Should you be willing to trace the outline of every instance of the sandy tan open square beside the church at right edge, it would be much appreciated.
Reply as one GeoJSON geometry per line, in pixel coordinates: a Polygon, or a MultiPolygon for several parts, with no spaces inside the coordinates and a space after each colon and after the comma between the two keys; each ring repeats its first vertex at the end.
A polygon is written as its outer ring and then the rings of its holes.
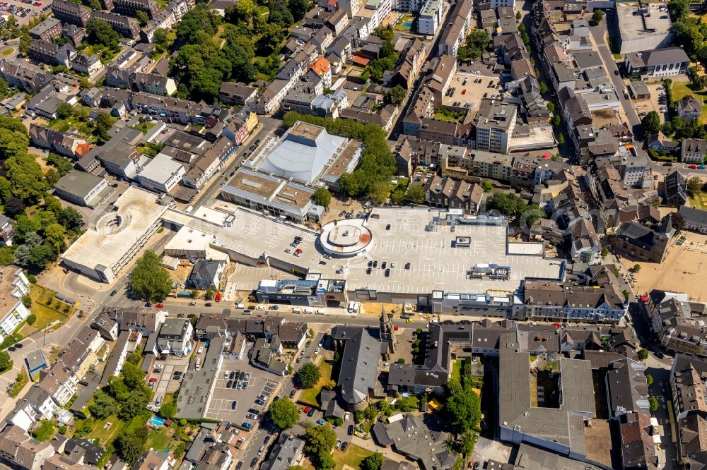
{"type": "MultiPolygon", "coordinates": [[[[680,236],[684,236],[684,243],[680,246],[673,244],[664,263],[638,263],[641,270],[636,275],[636,285],[633,289],[636,294],[660,289],[686,292],[696,301],[701,301],[702,296],[707,299],[700,276],[703,267],[707,267],[707,235],[682,231],[678,239],[680,236]]],[[[636,264],[635,261],[624,259],[621,262],[626,268],[636,264]]]]}

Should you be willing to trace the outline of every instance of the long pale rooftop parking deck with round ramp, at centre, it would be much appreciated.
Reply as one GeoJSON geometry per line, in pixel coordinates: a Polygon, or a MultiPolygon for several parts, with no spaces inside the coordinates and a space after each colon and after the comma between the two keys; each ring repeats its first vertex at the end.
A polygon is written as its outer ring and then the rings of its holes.
{"type": "MultiPolygon", "coordinates": [[[[218,203],[217,203],[218,204],[218,203]]],[[[215,246],[226,251],[243,253],[250,258],[259,258],[265,253],[271,258],[296,265],[303,271],[321,273],[325,279],[346,278],[349,290],[373,289],[381,292],[428,294],[433,289],[446,292],[485,292],[488,290],[515,291],[520,281],[526,278],[558,279],[561,271],[559,260],[550,260],[539,255],[508,253],[506,224],[474,225],[457,224],[455,231],[450,226],[438,225],[433,231],[425,227],[439,216],[438,210],[427,208],[375,207],[366,227],[373,236],[366,253],[354,258],[326,260],[317,241],[318,234],[288,223],[279,223],[270,217],[238,207],[234,230],[223,227],[222,220],[209,222],[197,215],[214,210],[194,210],[192,215],[168,210],[165,219],[187,225],[193,229],[216,236],[215,246]],[[390,225],[390,228],[387,226],[390,225]],[[299,257],[285,253],[295,236],[303,238],[298,246],[303,253],[299,257]],[[457,236],[469,236],[469,248],[455,248],[457,236]],[[369,260],[378,260],[378,269],[366,274],[369,260]],[[325,261],[325,265],[320,264],[325,261]],[[389,277],[381,269],[383,261],[396,263],[389,277]],[[410,269],[404,269],[410,263],[410,269]],[[467,271],[477,264],[495,263],[510,266],[510,278],[467,279],[467,271]],[[341,272],[343,270],[343,273],[341,272]]],[[[219,212],[227,215],[224,212],[219,212]]],[[[254,285],[260,279],[253,279],[254,285]]]]}

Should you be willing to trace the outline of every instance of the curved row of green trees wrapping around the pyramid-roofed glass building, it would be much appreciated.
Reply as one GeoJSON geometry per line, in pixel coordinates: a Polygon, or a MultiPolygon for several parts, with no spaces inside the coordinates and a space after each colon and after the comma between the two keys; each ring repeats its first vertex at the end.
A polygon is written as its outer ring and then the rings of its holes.
{"type": "Polygon", "coordinates": [[[352,173],[341,175],[339,186],[345,195],[368,195],[376,203],[385,202],[390,193],[389,182],[395,174],[396,165],[395,157],[387,146],[385,132],[380,126],[360,123],[353,119],[320,118],[296,112],[285,114],[283,125],[290,128],[297,121],[323,126],[327,132],[334,135],[363,141],[363,155],[358,168],[352,173]]]}

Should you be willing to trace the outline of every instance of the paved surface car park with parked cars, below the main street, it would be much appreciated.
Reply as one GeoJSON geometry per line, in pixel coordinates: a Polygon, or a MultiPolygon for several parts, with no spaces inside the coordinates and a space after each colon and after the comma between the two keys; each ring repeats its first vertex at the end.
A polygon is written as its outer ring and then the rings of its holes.
{"type": "Polygon", "coordinates": [[[248,410],[256,409],[262,416],[271,402],[279,380],[281,380],[281,377],[266,370],[252,367],[247,361],[224,358],[221,370],[219,370],[216,377],[216,386],[205,417],[230,421],[237,425],[245,422],[255,426],[256,420],[246,417],[246,414],[249,413],[248,410]],[[230,379],[230,373],[238,371],[250,374],[248,380],[230,379]],[[229,378],[226,378],[226,372],[228,372],[229,378]],[[246,390],[238,390],[237,386],[235,388],[226,387],[229,381],[233,385],[233,380],[236,383],[247,382],[246,390]],[[255,399],[261,394],[264,394],[267,398],[265,406],[255,404],[255,399]],[[233,409],[233,402],[236,402],[235,409],[233,409]]]}

